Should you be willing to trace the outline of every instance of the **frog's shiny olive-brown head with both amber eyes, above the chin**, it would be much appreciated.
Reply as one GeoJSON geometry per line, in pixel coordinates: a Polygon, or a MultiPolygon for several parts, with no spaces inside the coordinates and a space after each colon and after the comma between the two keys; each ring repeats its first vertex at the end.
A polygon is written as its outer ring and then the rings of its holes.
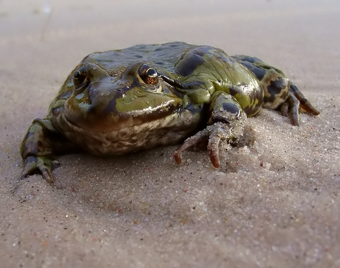
{"type": "Polygon", "coordinates": [[[65,103],[65,116],[73,125],[90,129],[119,129],[165,117],[182,100],[147,62],[106,70],[85,63],[73,74],[73,91],[65,103]]]}

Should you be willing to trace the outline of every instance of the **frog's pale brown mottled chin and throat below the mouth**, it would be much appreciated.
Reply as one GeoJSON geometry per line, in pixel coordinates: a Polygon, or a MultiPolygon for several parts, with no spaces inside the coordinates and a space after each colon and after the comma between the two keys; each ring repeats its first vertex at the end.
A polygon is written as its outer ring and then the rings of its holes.
{"type": "MultiPolygon", "coordinates": [[[[144,122],[142,118],[133,116],[117,122],[101,121],[101,125],[95,127],[74,125],[66,117],[65,119],[63,126],[68,125],[68,130],[71,130],[63,131],[65,136],[98,156],[121,155],[158,145],[176,144],[183,140],[183,136],[192,132],[191,128],[178,126],[179,118],[176,112],[154,120],[149,118],[144,122]]],[[[187,124],[196,127],[197,122],[187,124]]]]}

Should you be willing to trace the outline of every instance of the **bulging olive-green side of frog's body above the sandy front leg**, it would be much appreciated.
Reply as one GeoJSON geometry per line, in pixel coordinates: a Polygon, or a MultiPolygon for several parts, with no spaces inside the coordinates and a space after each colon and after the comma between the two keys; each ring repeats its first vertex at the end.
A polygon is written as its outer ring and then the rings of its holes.
{"type": "Polygon", "coordinates": [[[201,82],[210,95],[217,91],[232,95],[248,116],[254,116],[262,107],[264,95],[258,79],[220,48],[191,47],[181,54],[173,71],[184,83],[201,82]]]}

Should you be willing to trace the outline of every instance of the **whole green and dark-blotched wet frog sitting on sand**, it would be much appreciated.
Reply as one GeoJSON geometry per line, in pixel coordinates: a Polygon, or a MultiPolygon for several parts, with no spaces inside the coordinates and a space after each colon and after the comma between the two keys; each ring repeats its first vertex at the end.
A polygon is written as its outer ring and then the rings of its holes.
{"type": "Polygon", "coordinates": [[[48,115],[29,126],[20,178],[40,173],[52,184],[58,155],[119,156],[175,144],[177,164],[203,144],[219,168],[221,142],[237,143],[262,108],[295,126],[300,112],[319,114],[282,71],[255,57],[184,42],[94,52],[68,75],[48,115]]]}

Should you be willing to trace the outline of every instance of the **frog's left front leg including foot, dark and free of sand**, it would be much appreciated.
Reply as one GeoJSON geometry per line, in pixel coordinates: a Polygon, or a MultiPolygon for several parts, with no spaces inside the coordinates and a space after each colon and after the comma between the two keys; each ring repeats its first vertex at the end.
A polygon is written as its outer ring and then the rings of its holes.
{"type": "Polygon", "coordinates": [[[28,128],[20,147],[23,159],[23,171],[20,179],[41,173],[47,182],[53,183],[52,170],[60,163],[53,157],[60,148],[68,147],[70,143],[51,124],[51,119],[36,118],[28,128]]]}

